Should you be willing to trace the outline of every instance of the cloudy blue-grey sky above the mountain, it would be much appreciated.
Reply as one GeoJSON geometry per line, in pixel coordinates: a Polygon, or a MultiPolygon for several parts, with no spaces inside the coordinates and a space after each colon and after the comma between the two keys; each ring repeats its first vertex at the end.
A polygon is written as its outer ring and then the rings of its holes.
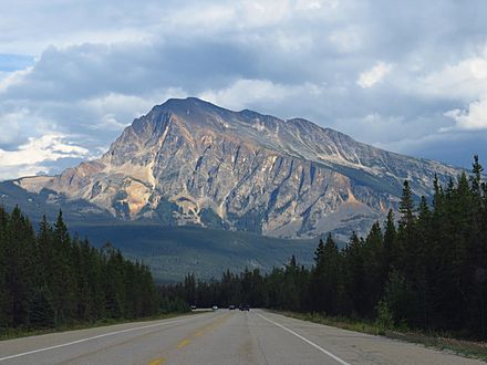
{"type": "Polygon", "coordinates": [[[186,96],[468,168],[487,1],[0,0],[0,180],[100,157],[186,96]]]}

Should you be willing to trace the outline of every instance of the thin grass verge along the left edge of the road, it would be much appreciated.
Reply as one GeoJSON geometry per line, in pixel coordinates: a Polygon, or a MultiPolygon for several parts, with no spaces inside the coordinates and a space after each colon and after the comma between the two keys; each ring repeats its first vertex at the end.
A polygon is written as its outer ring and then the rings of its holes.
{"type": "Polygon", "coordinates": [[[176,316],[183,315],[194,315],[204,312],[187,312],[187,313],[166,313],[158,314],[143,319],[133,319],[133,320],[114,320],[114,319],[105,319],[96,322],[76,322],[71,324],[63,324],[52,328],[29,328],[29,327],[20,327],[20,328],[0,328],[0,341],[6,340],[14,340],[20,337],[29,337],[29,336],[38,336],[42,334],[56,333],[56,332],[65,332],[65,331],[76,331],[76,330],[86,330],[86,328],[95,328],[114,324],[124,324],[132,322],[148,322],[148,321],[157,321],[157,320],[167,320],[176,316]]]}

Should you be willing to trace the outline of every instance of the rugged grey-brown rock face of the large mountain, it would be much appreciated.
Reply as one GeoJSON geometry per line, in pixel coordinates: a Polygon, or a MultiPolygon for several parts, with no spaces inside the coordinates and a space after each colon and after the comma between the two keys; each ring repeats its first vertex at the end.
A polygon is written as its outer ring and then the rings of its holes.
{"type": "Polygon", "coordinates": [[[364,232],[395,209],[404,179],[429,195],[459,170],[355,142],[305,119],[169,100],[125,128],[99,160],[15,184],[85,200],[125,220],[310,238],[364,232]]]}

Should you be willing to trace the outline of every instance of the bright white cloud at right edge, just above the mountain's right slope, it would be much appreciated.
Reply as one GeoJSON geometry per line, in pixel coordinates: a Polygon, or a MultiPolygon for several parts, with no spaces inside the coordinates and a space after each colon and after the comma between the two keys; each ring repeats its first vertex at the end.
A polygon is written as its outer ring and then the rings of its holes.
{"type": "MultiPolygon", "coordinates": [[[[445,113],[445,116],[455,121],[458,129],[487,129],[487,97],[473,102],[466,109],[453,109],[445,113]]],[[[447,131],[448,128],[443,128],[447,131]]]]}

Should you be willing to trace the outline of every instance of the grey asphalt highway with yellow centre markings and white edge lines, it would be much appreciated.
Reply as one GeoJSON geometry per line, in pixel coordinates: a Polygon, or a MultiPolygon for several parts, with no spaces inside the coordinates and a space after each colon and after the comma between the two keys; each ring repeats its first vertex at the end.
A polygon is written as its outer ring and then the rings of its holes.
{"type": "Polygon", "coordinates": [[[218,310],[0,342],[3,364],[485,364],[251,310],[218,310]]]}

